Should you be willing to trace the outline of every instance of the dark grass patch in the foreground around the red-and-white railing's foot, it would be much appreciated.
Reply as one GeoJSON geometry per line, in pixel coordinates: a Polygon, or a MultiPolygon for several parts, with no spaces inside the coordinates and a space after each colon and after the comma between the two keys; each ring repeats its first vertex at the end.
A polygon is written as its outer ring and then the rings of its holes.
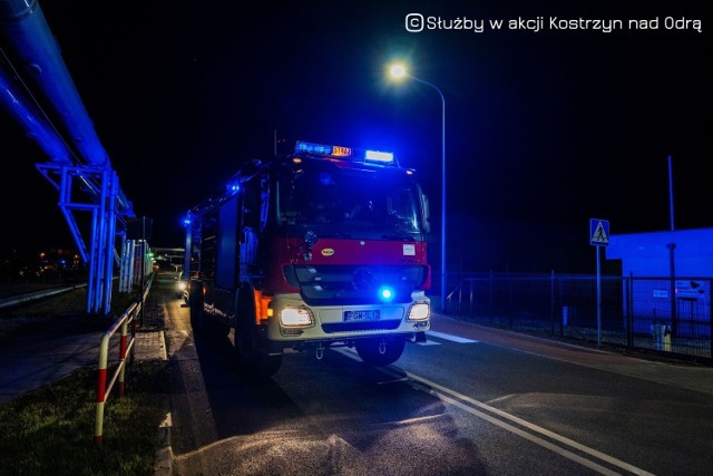
{"type": "Polygon", "coordinates": [[[105,406],[92,441],[96,369],[81,369],[0,406],[0,468],[9,475],[150,475],[168,402],[164,361],[137,361],[105,406]]]}

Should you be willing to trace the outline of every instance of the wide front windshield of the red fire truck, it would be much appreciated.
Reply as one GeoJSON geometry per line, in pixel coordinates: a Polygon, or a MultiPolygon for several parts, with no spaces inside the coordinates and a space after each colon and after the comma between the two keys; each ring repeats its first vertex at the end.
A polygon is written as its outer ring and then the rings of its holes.
{"type": "Polygon", "coordinates": [[[305,166],[277,186],[279,220],[289,227],[409,236],[422,231],[419,187],[403,169],[305,166]]]}

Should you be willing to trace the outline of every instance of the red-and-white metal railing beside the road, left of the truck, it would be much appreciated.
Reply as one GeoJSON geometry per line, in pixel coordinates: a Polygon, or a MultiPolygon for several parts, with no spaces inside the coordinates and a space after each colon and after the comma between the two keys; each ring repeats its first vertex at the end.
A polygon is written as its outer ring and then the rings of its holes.
{"type": "Polygon", "coordinates": [[[97,375],[97,406],[96,406],[96,418],[95,418],[95,429],[94,429],[94,443],[97,446],[101,446],[104,440],[104,407],[106,405],[107,399],[109,398],[109,394],[114,388],[114,385],[118,381],[119,387],[119,397],[124,395],[124,381],[126,376],[126,366],[127,366],[127,356],[129,356],[128,363],[133,362],[134,358],[134,344],[136,342],[136,320],[137,317],[143,312],[144,305],[146,303],[146,297],[148,295],[148,290],[150,289],[152,282],[154,278],[148,280],[144,292],[139,300],[134,302],[129,308],[124,311],[121,317],[117,319],[114,324],[104,333],[101,337],[101,344],[99,347],[99,371],[97,375]],[[129,339],[128,329],[129,324],[131,324],[131,336],[129,339]],[[109,367],[109,343],[111,341],[111,337],[116,334],[120,330],[120,341],[119,341],[119,358],[118,366],[114,370],[111,375],[111,379],[107,385],[108,377],[108,367],[109,367]]]}

